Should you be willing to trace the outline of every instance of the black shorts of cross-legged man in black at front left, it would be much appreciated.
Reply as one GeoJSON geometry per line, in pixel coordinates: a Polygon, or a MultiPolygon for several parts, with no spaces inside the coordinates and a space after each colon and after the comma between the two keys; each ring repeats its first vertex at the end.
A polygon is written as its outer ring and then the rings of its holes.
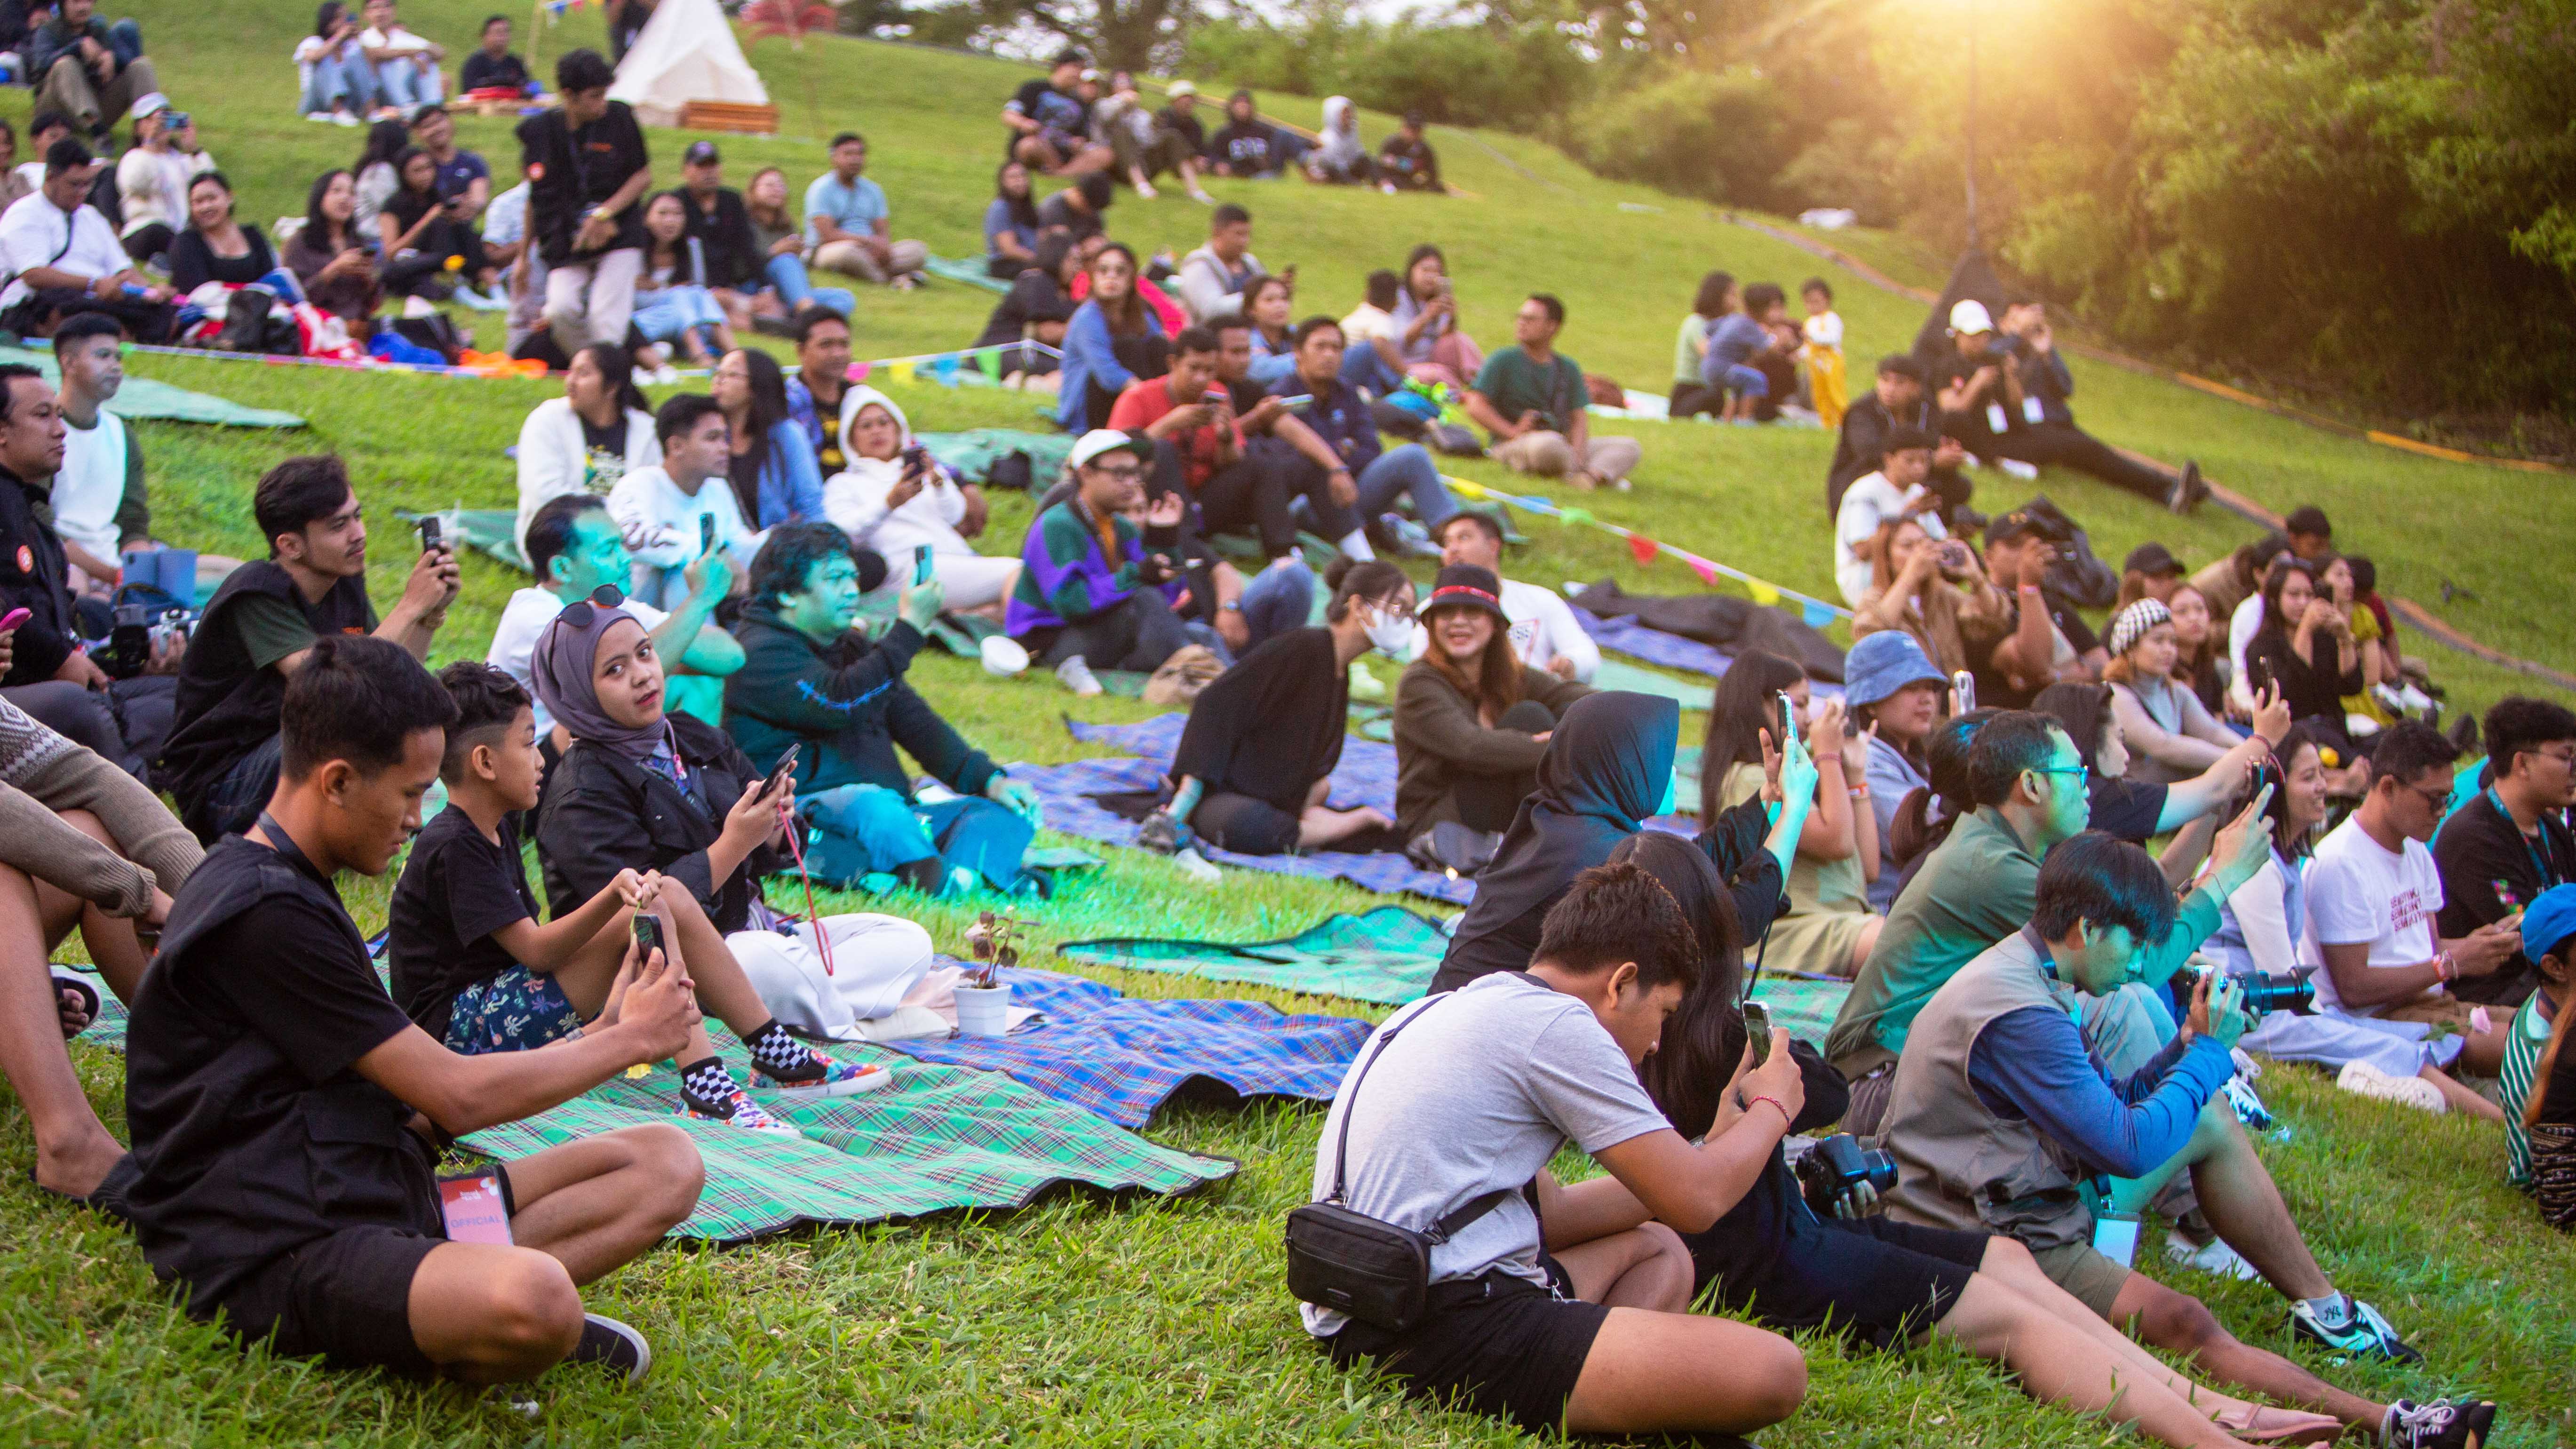
{"type": "Polygon", "coordinates": [[[245,1276],[216,1307],[227,1330],[281,1359],[430,1379],[438,1369],[412,1341],[410,1307],[412,1276],[440,1243],[410,1227],[343,1227],[245,1276]]]}

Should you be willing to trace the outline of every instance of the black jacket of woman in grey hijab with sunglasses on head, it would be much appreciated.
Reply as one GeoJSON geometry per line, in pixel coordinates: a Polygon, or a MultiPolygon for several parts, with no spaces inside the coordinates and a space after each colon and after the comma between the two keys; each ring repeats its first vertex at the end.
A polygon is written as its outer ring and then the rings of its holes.
{"type": "Polygon", "coordinates": [[[564,761],[546,771],[536,853],[546,866],[546,900],[556,915],[577,910],[618,871],[636,869],[685,884],[716,931],[750,926],[757,877],[783,866],[781,851],[760,846],[719,882],[706,848],[724,833],[724,812],[760,771],[714,724],[672,714],[670,730],[680,763],[688,766],[688,794],[587,740],[574,740],[564,761]]]}

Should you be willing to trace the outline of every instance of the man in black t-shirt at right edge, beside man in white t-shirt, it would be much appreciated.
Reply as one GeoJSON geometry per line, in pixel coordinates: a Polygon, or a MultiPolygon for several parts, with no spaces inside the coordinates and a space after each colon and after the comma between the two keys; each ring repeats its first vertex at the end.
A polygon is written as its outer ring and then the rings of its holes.
{"type": "MultiPolygon", "coordinates": [[[[2576,804],[2576,712],[2548,699],[2506,696],[2486,712],[2486,761],[2494,779],[2476,799],[2450,812],[2432,838],[2432,864],[2442,871],[2445,941],[2504,920],[2543,890],[2576,882],[2576,835],[2566,812],[2576,804]]],[[[2460,977],[2460,1000],[2514,1006],[2537,975],[2514,951],[2491,977],[2460,977]]]]}

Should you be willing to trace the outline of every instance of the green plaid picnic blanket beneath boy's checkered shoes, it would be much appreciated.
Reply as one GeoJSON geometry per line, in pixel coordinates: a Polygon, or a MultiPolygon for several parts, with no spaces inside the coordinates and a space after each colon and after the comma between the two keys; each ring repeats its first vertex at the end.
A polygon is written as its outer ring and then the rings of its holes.
{"type": "MultiPolygon", "coordinates": [[[[124,1049],[126,1013],[111,993],[100,998],[106,1011],[82,1042],[124,1049]]],[[[742,1044],[714,1021],[708,1036],[734,1075],[750,1080],[742,1044]]],[[[804,1222],[855,1227],[958,1207],[1025,1207],[1056,1183],[1185,1194],[1234,1176],[1234,1163],[1159,1147],[997,1073],[907,1062],[873,1047],[832,1049],[894,1067],[894,1083],[801,1106],[765,1101],[801,1137],[680,1116],[672,1109],[680,1078],[659,1065],[461,1145],[523,1158],[621,1127],[677,1124],[706,1158],[706,1191],[672,1235],[708,1243],[747,1243],[804,1222]]]]}

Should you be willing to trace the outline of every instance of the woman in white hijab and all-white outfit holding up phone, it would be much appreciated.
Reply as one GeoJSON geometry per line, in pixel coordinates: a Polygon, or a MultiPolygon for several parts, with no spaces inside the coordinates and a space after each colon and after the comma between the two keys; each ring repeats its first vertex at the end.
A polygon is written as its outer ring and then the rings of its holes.
{"type": "Polygon", "coordinates": [[[1020,580],[1020,559],[987,557],[966,539],[984,531],[984,492],[956,482],[927,451],[912,464],[912,423],[891,397],[850,387],[840,400],[845,469],[822,485],[822,513],[860,549],[886,559],[889,580],[912,578],[912,549],[930,549],[930,567],[953,611],[997,611],[1020,580]]]}

